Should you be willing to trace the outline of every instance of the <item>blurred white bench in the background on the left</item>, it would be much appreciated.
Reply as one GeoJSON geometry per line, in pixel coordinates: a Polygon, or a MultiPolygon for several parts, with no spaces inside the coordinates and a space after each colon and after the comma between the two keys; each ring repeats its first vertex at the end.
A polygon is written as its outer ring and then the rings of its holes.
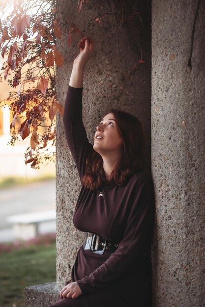
{"type": "Polygon", "coordinates": [[[7,217],[7,221],[13,224],[15,238],[23,240],[34,238],[39,233],[39,223],[55,220],[55,210],[11,215],[7,217]]]}

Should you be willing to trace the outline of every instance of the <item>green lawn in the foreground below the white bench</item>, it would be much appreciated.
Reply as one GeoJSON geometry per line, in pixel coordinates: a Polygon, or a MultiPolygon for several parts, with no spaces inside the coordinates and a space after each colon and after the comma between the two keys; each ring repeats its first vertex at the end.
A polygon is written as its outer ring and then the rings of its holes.
{"type": "Polygon", "coordinates": [[[56,281],[55,243],[0,253],[0,306],[24,307],[25,287],[51,281],[56,281]]]}

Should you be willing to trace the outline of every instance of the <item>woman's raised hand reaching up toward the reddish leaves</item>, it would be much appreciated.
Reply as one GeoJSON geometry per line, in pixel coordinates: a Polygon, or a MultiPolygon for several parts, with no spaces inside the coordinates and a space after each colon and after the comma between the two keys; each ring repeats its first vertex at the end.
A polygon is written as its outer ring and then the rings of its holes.
{"type": "Polygon", "coordinates": [[[79,42],[78,47],[80,48],[80,53],[75,58],[74,65],[80,69],[84,69],[94,51],[94,41],[86,36],[79,42]]]}

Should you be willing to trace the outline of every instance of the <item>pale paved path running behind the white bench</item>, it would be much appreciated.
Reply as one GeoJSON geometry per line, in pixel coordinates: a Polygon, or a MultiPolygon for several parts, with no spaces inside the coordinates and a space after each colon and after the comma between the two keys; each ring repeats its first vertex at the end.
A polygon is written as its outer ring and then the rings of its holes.
{"type": "MultiPolygon", "coordinates": [[[[32,182],[0,189],[0,241],[12,240],[11,224],[6,221],[9,215],[36,211],[55,210],[56,187],[55,179],[32,182]]],[[[46,223],[42,232],[53,231],[55,223],[46,223]],[[53,226],[52,226],[53,225],[53,226]]],[[[43,225],[42,225],[43,226],[43,225]]]]}

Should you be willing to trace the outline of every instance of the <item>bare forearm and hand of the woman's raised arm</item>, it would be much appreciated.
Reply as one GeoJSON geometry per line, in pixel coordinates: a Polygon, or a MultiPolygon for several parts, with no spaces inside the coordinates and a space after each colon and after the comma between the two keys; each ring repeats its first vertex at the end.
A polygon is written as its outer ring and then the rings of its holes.
{"type": "Polygon", "coordinates": [[[80,48],[80,53],[74,60],[69,83],[70,86],[75,88],[83,87],[84,67],[94,51],[94,42],[91,38],[84,37],[79,42],[78,46],[80,48]]]}

